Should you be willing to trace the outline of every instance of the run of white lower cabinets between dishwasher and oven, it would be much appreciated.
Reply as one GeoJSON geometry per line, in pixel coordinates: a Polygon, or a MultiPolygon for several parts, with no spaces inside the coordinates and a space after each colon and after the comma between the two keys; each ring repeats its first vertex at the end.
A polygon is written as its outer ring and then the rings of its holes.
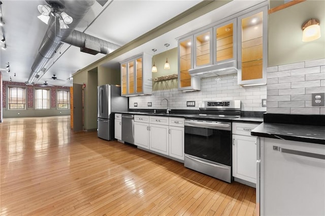
{"type": "Polygon", "coordinates": [[[184,160],[184,119],[135,115],[135,145],[184,160]]]}

